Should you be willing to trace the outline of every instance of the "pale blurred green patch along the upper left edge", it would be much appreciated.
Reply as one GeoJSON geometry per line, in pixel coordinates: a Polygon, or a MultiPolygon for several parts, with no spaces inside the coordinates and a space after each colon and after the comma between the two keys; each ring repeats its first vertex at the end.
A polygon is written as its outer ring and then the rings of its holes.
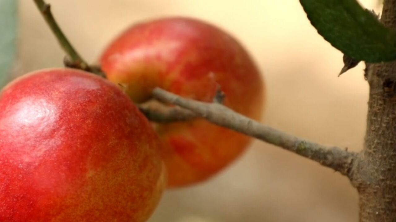
{"type": "Polygon", "coordinates": [[[0,88],[10,79],[17,36],[17,0],[0,0],[0,88]]]}

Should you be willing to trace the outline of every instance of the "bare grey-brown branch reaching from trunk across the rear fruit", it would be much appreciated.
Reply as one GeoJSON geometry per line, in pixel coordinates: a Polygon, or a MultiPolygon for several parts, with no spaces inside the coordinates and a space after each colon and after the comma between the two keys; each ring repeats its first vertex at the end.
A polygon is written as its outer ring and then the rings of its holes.
{"type": "Polygon", "coordinates": [[[348,152],[339,147],[326,147],[265,126],[219,103],[206,103],[182,98],[160,88],[155,88],[153,95],[162,102],[179,105],[214,124],[282,147],[300,156],[314,160],[323,166],[339,171],[348,177],[352,162],[357,156],[356,153],[348,152]]]}

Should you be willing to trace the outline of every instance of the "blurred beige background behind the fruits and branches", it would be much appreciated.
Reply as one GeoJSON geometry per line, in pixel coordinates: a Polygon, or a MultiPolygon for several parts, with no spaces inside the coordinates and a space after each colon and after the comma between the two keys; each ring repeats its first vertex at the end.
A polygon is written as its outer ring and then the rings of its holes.
{"type": "MultiPolygon", "coordinates": [[[[187,15],[221,26],[254,56],[267,85],[265,122],[328,145],[362,147],[368,86],[360,64],[337,78],[342,54],[310,26],[297,0],[48,1],[90,62],[127,26],[187,15]]],[[[374,0],[367,8],[379,11],[374,0]]],[[[16,75],[61,66],[63,52],[31,0],[20,0],[16,75]]],[[[335,222],[358,220],[358,197],[339,173],[255,141],[221,174],[168,191],[150,222],[335,222]]]]}

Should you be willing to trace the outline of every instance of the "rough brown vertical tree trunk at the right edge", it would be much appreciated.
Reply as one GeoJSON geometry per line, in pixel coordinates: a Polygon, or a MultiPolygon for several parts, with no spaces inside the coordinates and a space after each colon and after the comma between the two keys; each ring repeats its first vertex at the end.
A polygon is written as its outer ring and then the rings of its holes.
{"type": "MultiPolygon", "coordinates": [[[[385,0],[381,21],[396,28],[396,0],[385,0]]],[[[396,62],[369,64],[370,96],[364,149],[351,181],[360,222],[396,222],[396,62]]]]}

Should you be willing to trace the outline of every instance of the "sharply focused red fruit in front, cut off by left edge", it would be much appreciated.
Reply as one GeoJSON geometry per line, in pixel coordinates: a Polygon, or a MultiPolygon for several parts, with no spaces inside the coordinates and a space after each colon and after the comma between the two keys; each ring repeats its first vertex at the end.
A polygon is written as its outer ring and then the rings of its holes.
{"type": "Polygon", "coordinates": [[[2,90],[1,222],[143,222],[164,175],[150,123],[109,81],[59,68],[2,90]]]}

